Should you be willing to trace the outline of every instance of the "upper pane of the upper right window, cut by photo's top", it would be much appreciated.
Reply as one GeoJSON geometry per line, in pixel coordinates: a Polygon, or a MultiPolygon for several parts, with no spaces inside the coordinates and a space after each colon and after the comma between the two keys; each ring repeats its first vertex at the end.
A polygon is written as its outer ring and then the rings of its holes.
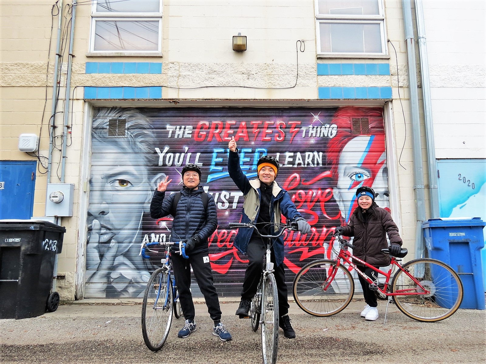
{"type": "Polygon", "coordinates": [[[380,0],[319,0],[319,14],[380,15],[380,0]]]}

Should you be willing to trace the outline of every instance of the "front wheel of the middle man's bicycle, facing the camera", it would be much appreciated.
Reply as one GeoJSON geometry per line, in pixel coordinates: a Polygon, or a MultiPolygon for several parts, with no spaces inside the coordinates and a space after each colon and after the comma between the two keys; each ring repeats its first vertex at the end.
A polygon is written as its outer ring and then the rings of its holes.
{"type": "Polygon", "coordinates": [[[275,364],[278,351],[277,282],[272,273],[263,279],[261,294],[261,352],[263,364],[275,364]]]}

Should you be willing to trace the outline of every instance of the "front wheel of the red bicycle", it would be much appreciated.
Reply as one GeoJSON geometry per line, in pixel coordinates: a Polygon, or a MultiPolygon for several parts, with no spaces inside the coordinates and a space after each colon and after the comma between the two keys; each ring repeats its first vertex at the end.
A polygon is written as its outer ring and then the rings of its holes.
{"type": "Polygon", "coordinates": [[[354,281],[345,266],[336,267],[336,262],[321,259],[300,269],[294,279],[293,294],[295,303],[304,312],[331,316],[343,311],[351,301],[354,281]]]}

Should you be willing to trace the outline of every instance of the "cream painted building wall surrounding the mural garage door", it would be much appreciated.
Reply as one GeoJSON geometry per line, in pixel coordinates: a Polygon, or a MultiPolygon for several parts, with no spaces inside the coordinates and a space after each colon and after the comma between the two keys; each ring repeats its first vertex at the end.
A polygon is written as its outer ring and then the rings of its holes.
{"type": "MultiPolygon", "coordinates": [[[[48,154],[48,125],[52,107],[52,75],[58,19],[51,16],[52,2],[3,0],[0,5],[1,160],[36,159],[18,151],[18,135],[21,132],[40,133],[39,153],[43,156],[48,154]],[[50,38],[52,43],[49,49],[50,38]]],[[[204,6],[190,1],[167,0],[163,9],[162,57],[89,56],[91,8],[88,4],[78,5],[73,47],[75,57],[72,59],[69,90],[73,100],[69,106],[69,147],[64,181],[75,185],[74,209],[72,217],[63,217],[60,220],[60,224],[67,228],[58,266],[59,275],[66,277],[65,281],[58,280],[58,290],[62,297],[74,298],[76,286],[77,294],[82,297],[79,286],[83,283],[80,272],[85,269],[89,133],[93,106],[302,107],[383,106],[386,103],[389,185],[394,191],[390,197],[390,206],[392,215],[399,224],[404,244],[413,252],[417,221],[401,2],[385,0],[384,3],[387,37],[397,53],[388,45],[389,58],[346,59],[316,58],[313,0],[287,0],[278,3],[248,1],[244,5],[242,1],[212,1],[204,6]],[[242,53],[231,49],[231,37],[239,32],[248,37],[248,50],[242,53]],[[301,42],[297,42],[299,40],[301,42]],[[295,84],[297,56],[297,83],[295,87],[285,89],[283,87],[295,84]],[[162,63],[162,67],[159,74],[87,73],[89,62],[152,62],[162,63]],[[329,65],[346,64],[355,69],[363,64],[377,65],[377,68],[385,65],[388,66],[389,74],[318,74],[319,64],[327,64],[328,68],[329,65]],[[167,85],[174,88],[161,87],[167,85]],[[225,87],[183,89],[197,86],[225,87]],[[161,89],[160,97],[156,98],[101,99],[97,96],[86,97],[87,87],[92,87],[91,90],[99,87],[102,92],[107,91],[104,87],[161,89]],[[282,88],[277,89],[278,87],[282,88]],[[328,87],[329,97],[326,94],[328,87]],[[333,97],[331,87],[334,87],[332,91],[342,92],[342,96],[333,97]],[[376,90],[382,90],[383,94],[360,98],[355,93],[354,97],[348,97],[346,93],[349,88],[357,92],[357,87],[372,88],[366,89],[371,92],[369,95],[375,95],[376,90]]],[[[65,6],[66,2],[62,9],[63,16],[67,14],[65,6]]],[[[54,9],[54,14],[55,11],[54,9]]],[[[63,27],[65,25],[63,20],[63,27]]],[[[64,50],[60,81],[61,101],[56,109],[59,114],[55,117],[55,124],[58,126],[56,135],[62,130],[67,62],[68,51],[64,50]]],[[[358,91],[362,91],[361,88],[358,91]]],[[[60,158],[59,151],[54,149],[51,182],[60,180],[60,158]]],[[[46,159],[41,158],[41,161],[46,163],[46,159]]],[[[45,169],[39,167],[33,212],[35,216],[45,214],[47,179],[42,174],[44,172],[45,169]]],[[[413,254],[410,253],[408,257],[412,259],[413,254]]]]}

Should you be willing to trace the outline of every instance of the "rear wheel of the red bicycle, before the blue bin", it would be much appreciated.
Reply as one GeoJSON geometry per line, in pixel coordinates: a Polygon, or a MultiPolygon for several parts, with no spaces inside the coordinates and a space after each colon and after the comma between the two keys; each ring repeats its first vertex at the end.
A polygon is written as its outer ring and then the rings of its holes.
{"type": "Polygon", "coordinates": [[[393,293],[408,293],[395,296],[395,304],[401,312],[417,321],[443,320],[457,311],[463,298],[463,286],[452,268],[435,259],[415,259],[403,265],[393,277],[393,293]],[[411,277],[427,291],[424,293],[411,277]]]}

